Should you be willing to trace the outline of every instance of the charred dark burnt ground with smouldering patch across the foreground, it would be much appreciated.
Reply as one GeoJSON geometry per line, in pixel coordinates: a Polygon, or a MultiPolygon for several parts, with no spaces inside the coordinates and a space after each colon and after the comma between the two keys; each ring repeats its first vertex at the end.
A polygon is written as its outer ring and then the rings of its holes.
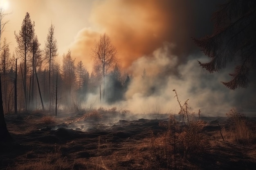
{"type": "Polygon", "coordinates": [[[246,148],[221,142],[214,120],[227,126],[226,118],[222,117],[202,118],[206,123],[202,133],[207,137],[207,147],[189,159],[178,159],[177,155],[175,166],[173,156],[164,159],[167,164],[159,164],[158,159],[159,162],[163,159],[152,153],[166,152],[152,147],[157,137],[168,130],[163,126],[168,125],[167,115],[128,119],[124,115],[73,113],[46,119],[43,113],[24,113],[7,114],[5,119],[14,140],[0,146],[0,170],[165,170],[168,167],[254,170],[256,167],[256,142],[246,148]]]}

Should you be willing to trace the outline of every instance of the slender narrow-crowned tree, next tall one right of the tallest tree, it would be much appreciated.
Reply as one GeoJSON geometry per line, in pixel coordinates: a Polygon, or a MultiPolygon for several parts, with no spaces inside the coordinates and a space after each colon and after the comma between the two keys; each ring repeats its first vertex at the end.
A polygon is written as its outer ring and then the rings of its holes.
{"type": "MultiPolygon", "coordinates": [[[[45,42],[45,59],[49,63],[49,97],[51,97],[51,66],[54,58],[57,56],[57,40],[54,38],[54,26],[51,24],[45,42]]],[[[53,90],[53,89],[52,89],[53,90]]],[[[51,100],[51,98],[49,98],[51,100]]]]}

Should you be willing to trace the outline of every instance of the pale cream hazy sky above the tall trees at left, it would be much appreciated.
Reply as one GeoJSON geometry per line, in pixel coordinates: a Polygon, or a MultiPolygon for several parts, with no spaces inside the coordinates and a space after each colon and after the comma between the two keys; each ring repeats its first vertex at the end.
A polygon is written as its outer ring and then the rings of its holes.
{"type": "Polygon", "coordinates": [[[58,42],[58,52],[62,56],[67,53],[77,33],[85,27],[90,27],[89,15],[92,2],[87,0],[4,0],[8,2],[6,13],[11,12],[4,19],[9,20],[6,32],[10,42],[11,51],[17,46],[14,31],[20,31],[21,24],[26,12],[35,22],[35,32],[41,43],[45,46],[48,29],[52,24],[55,26],[55,37],[58,42]]]}

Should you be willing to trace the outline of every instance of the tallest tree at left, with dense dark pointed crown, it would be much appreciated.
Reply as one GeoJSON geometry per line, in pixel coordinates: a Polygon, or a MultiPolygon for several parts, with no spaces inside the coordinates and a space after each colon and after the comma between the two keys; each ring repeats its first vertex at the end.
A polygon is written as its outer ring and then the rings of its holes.
{"type": "Polygon", "coordinates": [[[16,42],[18,44],[17,51],[20,55],[24,55],[24,95],[25,95],[25,109],[27,110],[27,55],[31,50],[32,40],[34,38],[34,26],[35,23],[31,22],[30,15],[27,12],[22,22],[20,32],[17,34],[14,32],[16,42]]]}

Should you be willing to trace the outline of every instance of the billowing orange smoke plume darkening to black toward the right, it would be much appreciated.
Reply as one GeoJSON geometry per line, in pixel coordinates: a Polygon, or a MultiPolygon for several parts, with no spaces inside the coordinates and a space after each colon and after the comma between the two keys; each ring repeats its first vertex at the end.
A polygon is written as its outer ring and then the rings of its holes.
{"type": "Polygon", "coordinates": [[[90,14],[92,28],[84,28],[78,33],[72,53],[79,60],[89,62],[94,40],[106,33],[117,48],[122,68],[128,68],[143,55],[150,55],[163,42],[175,44],[173,54],[181,58],[179,62],[184,62],[187,55],[198,51],[191,37],[211,32],[209,20],[217,3],[96,0],[90,14]]]}

